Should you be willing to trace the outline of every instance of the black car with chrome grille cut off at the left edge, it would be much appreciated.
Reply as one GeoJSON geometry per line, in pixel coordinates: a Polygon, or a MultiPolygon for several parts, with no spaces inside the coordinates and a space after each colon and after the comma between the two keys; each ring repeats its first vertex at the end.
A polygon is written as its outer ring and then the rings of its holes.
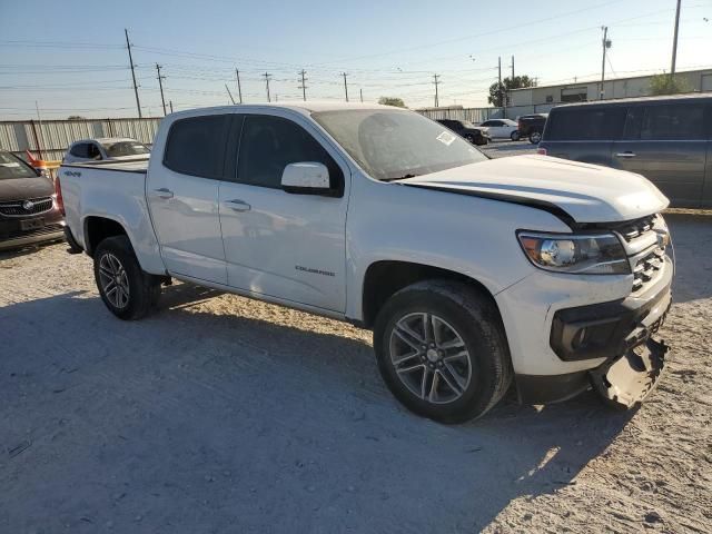
{"type": "Polygon", "coordinates": [[[0,250],[62,239],[63,229],[52,180],[0,150],[0,250]]]}

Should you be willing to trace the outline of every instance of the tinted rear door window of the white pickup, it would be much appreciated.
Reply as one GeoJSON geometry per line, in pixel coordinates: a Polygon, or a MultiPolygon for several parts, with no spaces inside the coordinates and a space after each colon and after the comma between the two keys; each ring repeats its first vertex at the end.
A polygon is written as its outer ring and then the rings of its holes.
{"type": "Polygon", "coordinates": [[[164,165],[182,175],[221,179],[229,118],[229,115],[208,115],[174,122],[164,165]]]}

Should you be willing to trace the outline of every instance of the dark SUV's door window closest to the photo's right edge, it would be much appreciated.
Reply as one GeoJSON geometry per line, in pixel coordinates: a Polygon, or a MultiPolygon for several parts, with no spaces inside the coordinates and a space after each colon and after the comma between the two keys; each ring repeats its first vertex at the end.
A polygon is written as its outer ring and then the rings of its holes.
{"type": "Polygon", "coordinates": [[[704,106],[671,103],[647,106],[641,122],[641,139],[705,139],[704,106]]]}

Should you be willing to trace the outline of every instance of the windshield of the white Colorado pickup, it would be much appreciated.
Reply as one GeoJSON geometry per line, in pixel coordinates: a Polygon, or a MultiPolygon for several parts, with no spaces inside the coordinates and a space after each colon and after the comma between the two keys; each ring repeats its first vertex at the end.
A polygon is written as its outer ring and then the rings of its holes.
{"type": "Polygon", "coordinates": [[[313,117],[378,180],[427,175],[487,159],[449,129],[412,111],[349,109],[313,117]]]}

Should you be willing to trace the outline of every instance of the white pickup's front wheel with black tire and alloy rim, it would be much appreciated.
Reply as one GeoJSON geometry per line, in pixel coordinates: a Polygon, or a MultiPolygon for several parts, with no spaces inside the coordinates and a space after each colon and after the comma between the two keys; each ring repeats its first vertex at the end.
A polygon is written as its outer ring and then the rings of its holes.
{"type": "Polygon", "coordinates": [[[481,417],[512,384],[498,310],[487,296],[462,283],[425,280],[393,295],[376,318],[374,350],[393,395],[439,423],[481,417]],[[424,323],[433,325],[429,336],[424,323]]]}

